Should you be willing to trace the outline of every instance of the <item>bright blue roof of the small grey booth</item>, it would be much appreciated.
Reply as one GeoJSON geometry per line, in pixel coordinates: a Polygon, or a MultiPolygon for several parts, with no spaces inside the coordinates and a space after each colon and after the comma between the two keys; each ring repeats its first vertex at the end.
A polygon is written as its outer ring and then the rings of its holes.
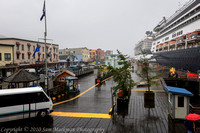
{"type": "Polygon", "coordinates": [[[180,94],[180,95],[185,95],[185,96],[193,96],[193,94],[184,89],[184,88],[178,88],[178,87],[172,87],[172,86],[165,86],[168,92],[171,92],[173,94],[180,94]]]}

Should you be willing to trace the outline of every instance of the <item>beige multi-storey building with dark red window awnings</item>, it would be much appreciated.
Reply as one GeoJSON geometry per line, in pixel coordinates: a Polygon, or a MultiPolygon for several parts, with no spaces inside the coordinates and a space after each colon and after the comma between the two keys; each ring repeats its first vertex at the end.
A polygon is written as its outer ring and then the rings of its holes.
{"type": "Polygon", "coordinates": [[[48,63],[58,63],[58,48],[57,44],[45,43],[24,40],[19,38],[0,38],[0,43],[3,44],[12,44],[14,45],[13,57],[14,64],[39,64],[44,63],[44,60],[47,58],[48,63]],[[40,51],[32,56],[34,51],[39,46],[40,51]],[[49,55],[49,56],[48,56],[49,55]]]}

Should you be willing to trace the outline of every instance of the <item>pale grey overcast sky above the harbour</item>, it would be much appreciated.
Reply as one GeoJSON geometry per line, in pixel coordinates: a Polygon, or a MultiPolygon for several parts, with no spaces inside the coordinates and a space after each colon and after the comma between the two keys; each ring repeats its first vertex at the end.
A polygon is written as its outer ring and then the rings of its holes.
{"type": "MultiPolygon", "coordinates": [[[[134,45],[162,17],[188,0],[46,0],[47,38],[59,48],[119,49],[133,56],[134,45]]],[[[0,34],[37,41],[44,0],[1,0],[0,34]]]]}

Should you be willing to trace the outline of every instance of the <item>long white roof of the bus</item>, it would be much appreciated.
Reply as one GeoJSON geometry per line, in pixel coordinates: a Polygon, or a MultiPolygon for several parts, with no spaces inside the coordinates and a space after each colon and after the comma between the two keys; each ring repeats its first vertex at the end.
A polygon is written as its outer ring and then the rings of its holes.
{"type": "Polygon", "coordinates": [[[38,87],[28,87],[28,88],[4,89],[0,90],[0,95],[30,93],[39,91],[43,91],[42,87],[38,86],[38,87]]]}

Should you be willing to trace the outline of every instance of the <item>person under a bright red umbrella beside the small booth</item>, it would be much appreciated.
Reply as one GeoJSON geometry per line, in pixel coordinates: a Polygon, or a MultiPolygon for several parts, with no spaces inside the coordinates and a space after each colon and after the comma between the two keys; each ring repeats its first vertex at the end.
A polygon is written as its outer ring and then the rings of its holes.
{"type": "Polygon", "coordinates": [[[198,114],[188,114],[186,117],[187,119],[187,133],[195,133],[195,121],[200,120],[200,115],[198,114]]]}

